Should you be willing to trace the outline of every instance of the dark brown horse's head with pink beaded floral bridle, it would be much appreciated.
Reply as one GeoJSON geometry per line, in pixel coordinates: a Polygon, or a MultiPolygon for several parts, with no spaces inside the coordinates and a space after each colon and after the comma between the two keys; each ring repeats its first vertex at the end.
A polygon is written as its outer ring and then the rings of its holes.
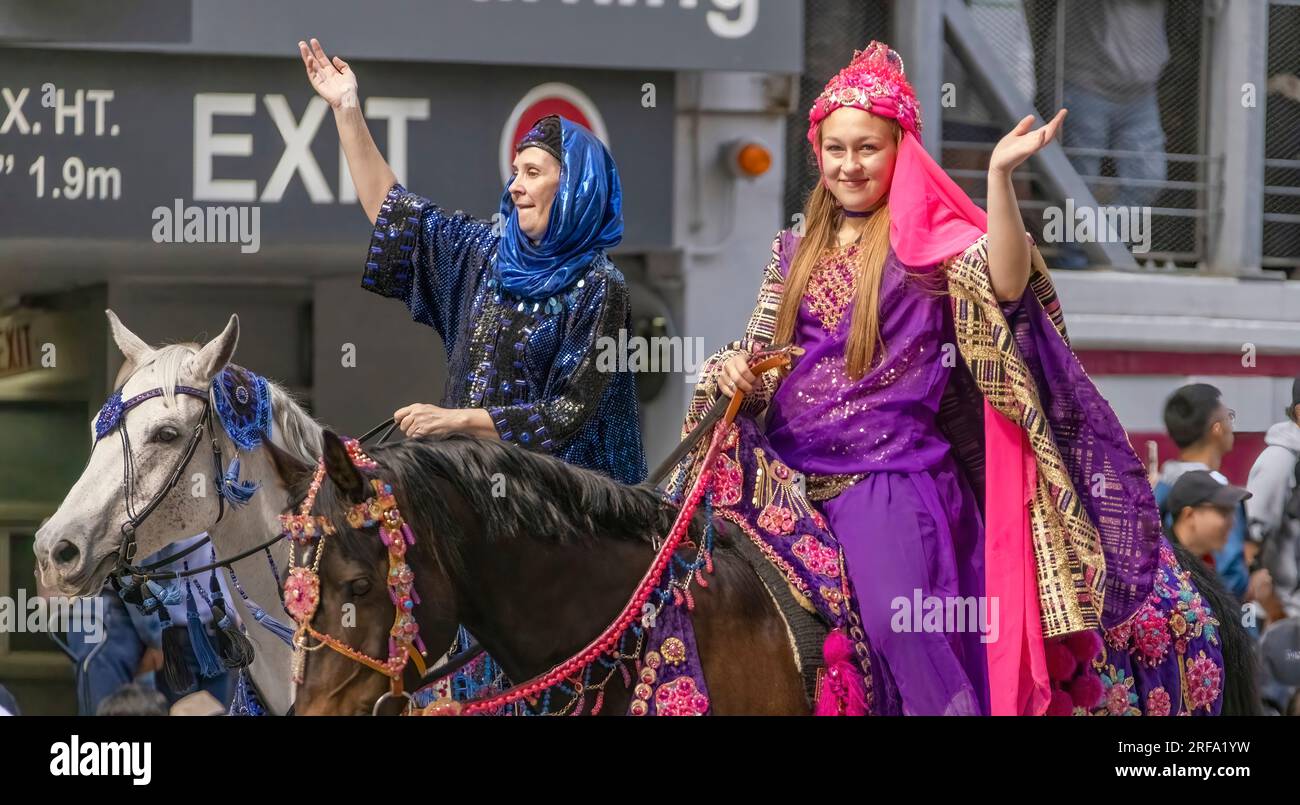
{"type": "MultiPolygon", "coordinates": [[[[391,637],[394,629],[403,628],[398,615],[406,589],[419,585],[419,603],[412,601],[410,613],[429,649],[429,662],[436,661],[455,636],[455,597],[429,545],[436,534],[428,507],[411,505],[412,490],[402,489],[389,469],[364,454],[350,454],[329,430],[324,433],[322,462],[324,475],[317,473],[321,480],[315,501],[309,492],[304,495],[308,511],[291,510],[311,515],[316,523],[320,523],[316,518],[324,518],[332,529],[322,538],[317,537],[309,550],[302,545],[294,548],[299,563],[315,563],[318,579],[318,603],[308,615],[315,633],[300,631],[299,635],[309,650],[304,654],[294,709],[303,715],[370,714],[374,704],[390,691],[390,678],[374,665],[404,653],[403,644],[391,637]],[[393,497],[385,498],[385,494],[393,497]],[[394,510],[395,514],[387,514],[394,510]],[[420,536],[420,541],[394,550],[385,538],[400,542],[403,533],[387,531],[386,525],[402,521],[408,524],[410,533],[420,536]],[[385,527],[382,536],[381,525],[385,527]],[[403,567],[410,568],[410,576],[403,567]]],[[[291,610],[298,584],[292,574],[286,580],[291,610]]],[[[413,691],[420,678],[416,663],[407,662],[402,674],[403,689],[413,691]]],[[[394,713],[402,704],[389,700],[381,711],[394,713]]]]}

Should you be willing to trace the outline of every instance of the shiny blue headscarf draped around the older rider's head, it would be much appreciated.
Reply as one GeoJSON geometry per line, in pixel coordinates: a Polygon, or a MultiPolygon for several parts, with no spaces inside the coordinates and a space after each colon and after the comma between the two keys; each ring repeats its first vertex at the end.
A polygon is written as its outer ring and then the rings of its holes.
{"type": "Polygon", "coordinates": [[[497,246],[497,278],[516,297],[545,299],[582,277],[599,254],[623,239],[619,169],[594,134],[560,118],[560,185],[546,234],[536,246],[519,229],[510,183],[500,196],[506,231],[497,246]]]}

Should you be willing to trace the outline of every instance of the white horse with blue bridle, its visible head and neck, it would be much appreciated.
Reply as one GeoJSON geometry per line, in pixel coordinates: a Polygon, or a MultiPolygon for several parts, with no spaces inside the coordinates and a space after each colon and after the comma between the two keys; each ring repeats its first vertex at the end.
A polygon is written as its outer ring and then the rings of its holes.
{"type": "MultiPolygon", "coordinates": [[[[289,493],[277,471],[272,451],[264,445],[239,451],[213,412],[207,421],[214,433],[195,437],[195,428],[204,421],[204,402],[182,393],[177,386],[205,390],[230,362],[239,341],[239,319],[230,323],[208,343],[179,343],[150,347],[117,319],[108,313],[109,328],[122,355],[133,367],[122,399],[161,389],[162,394],[146,399],[129,410],[118,427],[126,428],[133,454],[133,508],[139,512],[156,495],[162,494],[156,508],[135,529],[136,559],[161,548],[208,532],[218,559],[266,542],[280,532],[278,515],[290,503],[289,493]],[[185,458],[191,437],[198,438],[194,455],[179,480],[165,494],[174,467],[185,458]],[[235,455],[240,462],[240,480],[260,484],[252,499],[231,506],[218,498],[213,477],[212,438],[216,437],[225,460],[235,455]],[[218,516],[220,515],[220,516],[218,516]],[[218,521],[220,520],[220,521],[218,521]]],[[[282,388],[268,381],[272,403],[272,440],[276,447],[306,464],[316,464],[321,453],[321,427],[282,388]]],[[[213,402],[209,399],[209,406],[213,402]]],[[[95,438],[94,423],[91,438],[95,438]]],[[[124,540],[122,524],[130,520],[124,484],[124,445],[116,432],[99,443],[92,442],[90,462],[81,479],[64,498],[58,511],[36,532],[36,562],[48,587],[65,596],[98,594],[117,563],[124,540]]],[[[272,546],[276,566],[283,572],[289,549],[285,542],[272,546]]],[[[190,564],[204,564],[207,550],[200,550],[190,564]],[[202,559],[200,559],[202,558],[202,559]]],[[[239,585],[248,598],[281,623],[290,623],[280,602],[280,592],[264,551],[233,563],[239,585]]],[[[164,570],[179,570],[164,568],[164,570]]],[[[250,606],[226,576],[231,601],[246,624],[256,657],[250,668],[263,704],[270,713],[282,714],[292,702],[290,683],[290,650],[276,635],[259,626],[250,606]]]]}

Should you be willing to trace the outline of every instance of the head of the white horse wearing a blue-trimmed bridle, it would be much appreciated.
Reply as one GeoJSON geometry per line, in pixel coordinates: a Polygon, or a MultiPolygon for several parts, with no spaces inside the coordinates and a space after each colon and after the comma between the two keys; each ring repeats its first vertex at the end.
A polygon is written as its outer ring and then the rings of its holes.
{"type": "MultiPolygon", "coordinates": [[[[117,562],[124,524],[157,499],[152,516],[134,529],[136,557],[205,531],[218,512],[212,462],[203,450],[214,434],[198,433],[199,445],[185,469],[190,442],[203,425],[207,390],[239,341],[239,320],[199,347],[152,349],[108,313],[113,339],[130,367],[120,395],[127,402],[161,389],[120,415],[112,402],[91,423],[91,455],[58,511],[36,532],[36,561],[47,584],[64,594],[95,594],[117,562]],[[177,389],[194,391],[177,393],[177,389]],[[195,395],[195,391],[203,397],[195,395]],[[116,427],[105,428],[113,423],[116,427]],[[100,428],[96,432],[96,421],[100,428]],[[122,432],[125,430],[125,438],[122,432]],[[179,473],[168,489],[173,475],[179,473]],[[127,489],[127,480],[130,489],[127,489]],[[130,494],[130,502],[127,501],[130,494]]],[[[214,419],[211,421],[216,421],[214,419]]]]}

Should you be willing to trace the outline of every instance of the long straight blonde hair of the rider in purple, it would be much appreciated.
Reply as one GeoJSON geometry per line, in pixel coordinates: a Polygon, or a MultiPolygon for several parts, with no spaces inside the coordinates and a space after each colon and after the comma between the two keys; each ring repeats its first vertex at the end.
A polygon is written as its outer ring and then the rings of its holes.
{"type": "MultiPolygon", "coordinates": [[[[902,127],[893,122],[894,142],[902,140],[902,127]]],[[[818,131],[818,147],[822,134],[818,131]]],[[[849,342],[845,345],[845,368],[849,377],[858,380],[867,373],[879,350],[885,345],[880,339],[880,280],[884,276],[885,257],[889,256],[889,205],[888,196],[881,198],[879,207],[867,218],[858,241],[858,287],[853,300],[853,321],[849,325],[849,342]]],[[[836,231],[840,229],[842,211],[835,195],[818,181],[803,205],[805,235],[790,260],[785,291],[776,313],[776,343],[790,343],[794,338],[794,324],[800,316],[800,304],[807,290],[812,269],[826,250],[835,247],[836,231]]]]}

